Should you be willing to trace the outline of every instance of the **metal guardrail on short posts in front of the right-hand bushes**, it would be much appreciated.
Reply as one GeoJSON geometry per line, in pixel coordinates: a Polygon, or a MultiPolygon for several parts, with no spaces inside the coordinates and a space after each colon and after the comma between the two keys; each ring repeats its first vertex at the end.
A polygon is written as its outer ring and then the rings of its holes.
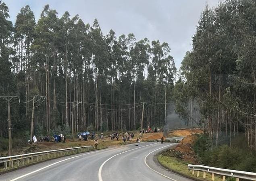
{"type": "Polygon", "coordinates": [[[192,175],[195,174],[194,171],[197,171],[197,177],[200,177],[200,171],[203,172],[203,178],[206,178],[206,172],[212,174],[212,181],[214,181],[214,174],[221,175],[222,180],[225,181],[227,177],[235,177],[237,181],[239,179],[246,180],[254,180],[256,181],[256,173],[253,172],[245,172],[245,171],[237,171],[237,170],[229,170],[229,169],[220,169],[216,167],[208,167],[204,165],[187,165],[189,170],[192,170],[192,175]]]}

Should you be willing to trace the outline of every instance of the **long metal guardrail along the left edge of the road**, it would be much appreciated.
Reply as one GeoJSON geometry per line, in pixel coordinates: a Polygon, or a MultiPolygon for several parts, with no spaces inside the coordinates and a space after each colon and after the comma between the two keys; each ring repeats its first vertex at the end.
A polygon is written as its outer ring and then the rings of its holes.
{"type": "Polygon", "coordinates": [[[10,168],[14,168],[15,166],[19,167],[20,165],[28,165],[29,163],[34,163],[37,161],[58,158],[65,155],[72,155],[76,153],[82,153],[92,148],[94,148],[94,146],[80,146],[74,148],[64,148],[36,153],[27,153],[23,155],[14,155],[9,157],[0,157],[0,164],[4,163],[4,169],[8,169],[7,163],[9,163],[10,168]]]}

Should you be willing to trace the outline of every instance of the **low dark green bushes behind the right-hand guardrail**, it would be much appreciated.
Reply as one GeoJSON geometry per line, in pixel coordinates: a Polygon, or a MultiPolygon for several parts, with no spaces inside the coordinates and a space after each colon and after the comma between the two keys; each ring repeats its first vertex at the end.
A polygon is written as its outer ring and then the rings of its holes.
{"type": "Polygon", "coordinates": [[[246,138],[238,135],[229,144],[212,146],[207,135],[202,135],[195,142],[193,149],[200,156],[204,165],[223,169],[256,172],[256,155],[248,154],[246,138]]]}

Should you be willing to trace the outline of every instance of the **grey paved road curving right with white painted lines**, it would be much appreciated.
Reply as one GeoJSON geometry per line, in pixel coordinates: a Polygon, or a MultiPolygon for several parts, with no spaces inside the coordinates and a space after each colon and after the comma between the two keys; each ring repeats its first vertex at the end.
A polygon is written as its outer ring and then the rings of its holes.
{"type": "Polygon", "coordinates": [[[171,145],[142,142],[70,155],[0,175],[0,181],[191,181],[153,161],[171,145]]]}

